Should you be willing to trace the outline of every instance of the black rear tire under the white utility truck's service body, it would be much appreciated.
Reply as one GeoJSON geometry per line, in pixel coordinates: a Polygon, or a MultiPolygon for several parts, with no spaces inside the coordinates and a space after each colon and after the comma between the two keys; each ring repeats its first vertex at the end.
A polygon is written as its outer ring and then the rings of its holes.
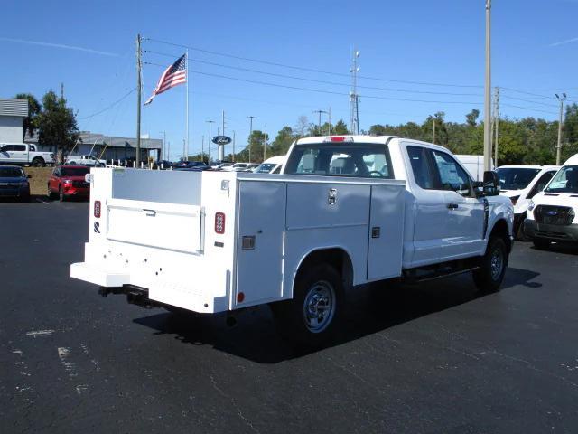
{"type": "Polygon", "coordinates": [[[300,271],[294,298],[271,304],[277,331],[295,344],[328,343],[339,323],[342,297],[340,274],[331,265],[320,264],[300,271]]]}

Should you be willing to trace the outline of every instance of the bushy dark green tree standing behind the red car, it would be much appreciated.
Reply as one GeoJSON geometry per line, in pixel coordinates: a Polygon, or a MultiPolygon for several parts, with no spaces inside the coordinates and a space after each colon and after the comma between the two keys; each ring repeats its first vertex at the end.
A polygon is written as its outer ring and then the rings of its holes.
{"type": "Polygon", "coordinates": [[[66,99],[57,97],[49,90],[42,97],[42,111],[38,115],[38,144],[55,148],[57,156],[63,156],[79,139],[79,128],[66,99]]]}

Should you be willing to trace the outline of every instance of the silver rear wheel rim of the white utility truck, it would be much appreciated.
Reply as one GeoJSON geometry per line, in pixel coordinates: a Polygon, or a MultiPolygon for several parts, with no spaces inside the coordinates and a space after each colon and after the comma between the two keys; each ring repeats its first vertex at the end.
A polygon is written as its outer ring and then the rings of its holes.
{"type": "Polygon", "coordinates": [[[335,290],[326,281],[315,282],[303,301],[303,319],[312,333],[325,330],[335,314],[335,290]]]}

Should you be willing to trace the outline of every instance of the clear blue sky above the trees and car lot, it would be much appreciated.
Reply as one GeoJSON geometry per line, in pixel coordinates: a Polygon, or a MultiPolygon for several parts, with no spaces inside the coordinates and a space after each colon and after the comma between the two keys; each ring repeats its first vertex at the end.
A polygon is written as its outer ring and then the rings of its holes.
{"type": "MultiPolygon", "coordinates": [[[[135,88],[136,33],[210,52],[346,74],[190,50],[191,71],[211,74],[191,72],[191,154],[200,151],[201,135],[208,136],[205,121],[219,121],[213,131],[220,125],[222,109],[228,118],[226,133],[236,131],[238,148],[246,143],[249,115],[257,117],[254,128],[266,126],[271,138],[284,125],[293,127],[299,116],[316,122],[315,109],[331,107],[333,119],[349,122],[347,74],[354,45],[360,51],[359,74],[380,79],[359,79],[365,86],[358,90],[362,129],[421,122],[436,111],[444,111],[451,121],[462,121],[471,109],[483,111],[484,0],[3,3],[0,97],[32,92],[40,99],[46,90],[60,90],[63,82],[83,130],[135,136],[135,93],[107,108],[135,88]]],[[[578,0],[492,3],[492,86],[504,88],[501,113],[556,118],[555,99],[536,95],[565,91],[578,100],[578,0]]],[[[183,53],[151,40],[144,41],[144,50],[145,62],[167,65],[183,53]]],[[[161,72],[159,66],[144,65],[144,99],[161,72]]],[[[143,109],[143,133],[162,137],[166,131],[173,158],[185,136],[184,91],[184,86],[169,90],[143,109]]]]}

